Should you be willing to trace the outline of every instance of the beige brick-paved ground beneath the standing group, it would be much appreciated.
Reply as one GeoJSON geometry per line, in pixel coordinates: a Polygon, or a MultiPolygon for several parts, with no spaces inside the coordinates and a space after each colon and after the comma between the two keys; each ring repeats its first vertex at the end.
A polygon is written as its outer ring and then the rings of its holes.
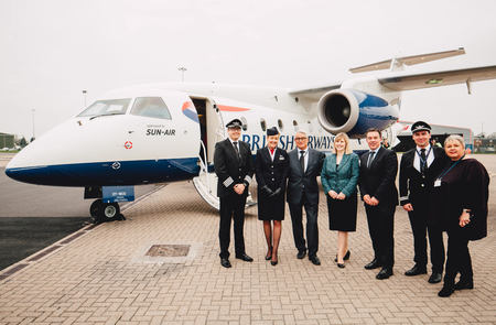
{"type": "MultiPolygon", "coordinates": [[[[218,214],[190,182],[171,183],[125,208],[127,220],[87,226],[0,272],[2,324],[495,324],[496,155],[475,155],[492,176],[489,235],[470,243],[473,290],[438,297],[429,274],[406,277],[413,266],[408,215],[395,217],[395,275],[376,280],[363,205],[349,235],[351,260],[334,263],[337,236],[328,230],[321,195],[319,257],[296,259],[289,210],[279,264],[263,259],[257,208],[247,210],[245,240],[252,263],[218,258],[218,214]],[[171,257],[181,249],[186,256],[171,257]]],[[[233,248],[231,248],[233,252],[233,248]]]]}

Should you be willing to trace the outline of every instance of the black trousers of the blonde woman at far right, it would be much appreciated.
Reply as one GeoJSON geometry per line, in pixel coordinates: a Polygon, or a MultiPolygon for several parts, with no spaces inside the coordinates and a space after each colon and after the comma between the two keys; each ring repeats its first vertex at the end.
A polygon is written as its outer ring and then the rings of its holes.
{"type": "Polygon", "coordinates": [[[444,274],[444,285],[452,286],[456,274],[460,280],[472,281],[474,272],[472,270],[472,259],[468,251],[468,239],[464,235],[464,229],[456,227],[448,230],[448,260],[446,272],[444,274]]]}

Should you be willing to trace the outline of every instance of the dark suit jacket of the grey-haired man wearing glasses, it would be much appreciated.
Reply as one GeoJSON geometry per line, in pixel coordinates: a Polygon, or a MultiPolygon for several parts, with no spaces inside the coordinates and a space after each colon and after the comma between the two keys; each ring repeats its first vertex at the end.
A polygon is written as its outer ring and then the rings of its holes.
{"type": "Polygon", "coordinates": [[[325,154],[309,148],[309,162],[303,172],[300,165],[299,152],[296,148],[288,154],[290,158],[290,172],[288,180],[288,203],[300,204],[303,193],[309,202],[319,203],[319,184],[316,176],[321,175],[325,154]]]}

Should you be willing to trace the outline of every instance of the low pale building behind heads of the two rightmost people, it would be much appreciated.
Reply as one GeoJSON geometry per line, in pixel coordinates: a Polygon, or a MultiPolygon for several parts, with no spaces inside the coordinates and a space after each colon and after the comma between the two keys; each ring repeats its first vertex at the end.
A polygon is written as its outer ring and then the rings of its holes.
{"type": "MultiPolygon", "coordinates": [[[[398,133],[398,140],[400,143],[395,145],[393,150],[397,152],[405,152],[412,149],[416,143],[411,139],[411,124],[414,122],[409,121],[399,121],[403,126],[402,130],[398,133]]],[[[431,124],[431,140],[435,140],[441,145],[444,143],[444,140],[451,134],[459,134],[465,139],[465,148],[470,150],[474,150],[474,136],[471,129],[452,127],[452,126],[441,126],[441,124],[431,124]]]]}

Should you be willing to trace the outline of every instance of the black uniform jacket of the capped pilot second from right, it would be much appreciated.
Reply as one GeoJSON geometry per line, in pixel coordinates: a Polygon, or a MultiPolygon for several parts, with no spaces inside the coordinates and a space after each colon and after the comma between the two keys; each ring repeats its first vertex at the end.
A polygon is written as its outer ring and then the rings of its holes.
{"type": "Polygon", "coordinates": [[[423,175],[413,166],[416,155],[418,154],[417,148],[407,151],[401,156],[399,171],[400,205],[425,201],[429,196],[429,192],[432,191],[435,178],[444,169],[444,165],[448,162],[444,150],[439,147],[431,148],[431,154],[434,154],[434,160],[431,165],[425,169],[423,175]]]}

